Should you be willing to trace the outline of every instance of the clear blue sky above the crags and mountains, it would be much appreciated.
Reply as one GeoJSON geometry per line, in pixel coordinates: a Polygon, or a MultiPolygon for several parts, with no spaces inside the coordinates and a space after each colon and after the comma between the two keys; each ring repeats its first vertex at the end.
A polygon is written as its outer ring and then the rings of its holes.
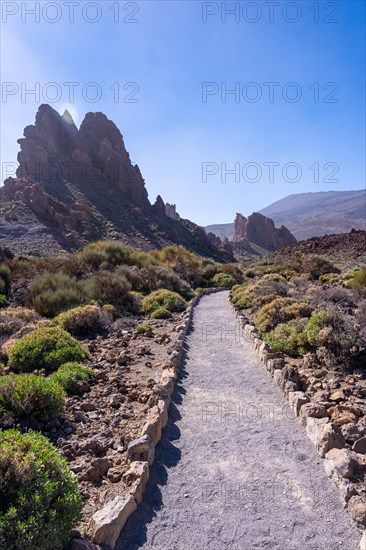
{"type": "Polygon", "coordinates": [[[150,201],[200,225],[363,189],[365,5],[3,0],[1,181],[49,103],[105,113],[150,201]]]}

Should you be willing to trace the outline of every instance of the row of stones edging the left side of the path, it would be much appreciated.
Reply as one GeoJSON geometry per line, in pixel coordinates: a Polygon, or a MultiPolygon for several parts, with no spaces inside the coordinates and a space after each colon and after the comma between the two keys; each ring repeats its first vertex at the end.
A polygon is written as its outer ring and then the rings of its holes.
{"type": "Polygon", "coordinates": [[[180,324],[170,334],[172,341],[167,349],[163,372],[148,401],[150,408],[140,428],[140,436],[131,441],[127,447],[127,460],[130,467],[123,475],[123,479],[129,484],[129,490],[126,494],[116,496],[93,514],[90,528],[96,544],[74,539],[70,550],[98,550],[100,546],[97,545],[105,545],[113,550],[126,521],[141,504],[149,481],[149,468],[155,458],[155,447],[168,422],[168,409],[183,359],[183,344],[191,326],[194,307],[203,296],[222,290],[224,289],[207,289],[193,298],[187,310],[181,315],[180,324]]]}

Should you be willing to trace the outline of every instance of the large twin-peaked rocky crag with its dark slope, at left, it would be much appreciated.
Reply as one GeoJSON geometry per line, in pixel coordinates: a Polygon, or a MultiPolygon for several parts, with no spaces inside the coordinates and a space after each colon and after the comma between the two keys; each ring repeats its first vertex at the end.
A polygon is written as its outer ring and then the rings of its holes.
{"type": "Polygon", "coordinates": [[[139,167],[103,113],[88,113],[78,129],[67,111],[41,105],[18,143],[17,177],[0,187],[0,245],[44,255],[120,239],[141,250],[177,243],[230,259],[203,228],[167,216],[160,196],[150,203],[139,167]]]}

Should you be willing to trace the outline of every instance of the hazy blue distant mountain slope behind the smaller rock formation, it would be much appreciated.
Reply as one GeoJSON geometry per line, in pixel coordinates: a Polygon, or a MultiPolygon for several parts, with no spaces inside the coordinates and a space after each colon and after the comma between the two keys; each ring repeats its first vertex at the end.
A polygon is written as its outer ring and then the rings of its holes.
{"type": "MultiPolygon", "coordinates": [[[[284,225],[297,240],[366,229],[366,190],[298,193],[276,201],[259,213],[284,225]]],[[[234,223],[205,227],[220,238],[234,238],[234,223]]]]}

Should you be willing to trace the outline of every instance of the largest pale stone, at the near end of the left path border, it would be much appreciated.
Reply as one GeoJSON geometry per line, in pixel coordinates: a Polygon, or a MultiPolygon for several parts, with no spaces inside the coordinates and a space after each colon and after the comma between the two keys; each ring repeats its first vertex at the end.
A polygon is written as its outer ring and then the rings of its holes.
{"type": "Polygon", "coordinates": [[[91,520],[95,542],[108,545],[113,550],[124,524],[136,508],[136,501],[131,495],[116,496],[103,506],[91,520]]]}

